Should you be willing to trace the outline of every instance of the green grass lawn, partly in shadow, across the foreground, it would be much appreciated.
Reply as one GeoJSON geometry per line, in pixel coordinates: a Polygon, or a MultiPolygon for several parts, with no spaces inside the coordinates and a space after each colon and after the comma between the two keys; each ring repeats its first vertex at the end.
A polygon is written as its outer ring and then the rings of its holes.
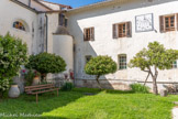
{"type": "Polygon", "coordinates": [[[44,94],[37,105],[35,96],[29,95],[0,100],[0,119],[3,119],[1,115],[15,117],[23,113],[41,115],[45,119],[171,119],[173,101],[178,101],[178,96],[75,88],[59,91],[58,97],[44,94]]]}

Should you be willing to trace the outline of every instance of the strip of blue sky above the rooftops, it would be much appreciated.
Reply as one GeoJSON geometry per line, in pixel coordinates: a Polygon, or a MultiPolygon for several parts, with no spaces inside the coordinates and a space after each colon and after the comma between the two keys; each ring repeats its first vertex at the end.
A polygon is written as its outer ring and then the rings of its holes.
{"type": "Polygon", "coordinates": [[[87,6],[87,4],[91,4],[104,0],[45,0],[45,1],[68,4],[71,6],[73,8],[78,8],[78,7],[82,7],[82,6],[87,6]]]}

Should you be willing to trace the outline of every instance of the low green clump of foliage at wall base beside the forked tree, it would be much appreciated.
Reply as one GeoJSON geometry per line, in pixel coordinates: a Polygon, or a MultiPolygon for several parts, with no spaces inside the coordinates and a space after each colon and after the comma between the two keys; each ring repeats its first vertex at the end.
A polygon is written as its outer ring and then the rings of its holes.
{"type": "Polygon", "coordinates": [[[149,93],[149,87],[141,85],[141,84],[132,84],[131,88],[132,88],[132,91],[134,93],[144,93],[144,94],[149,93]]]}

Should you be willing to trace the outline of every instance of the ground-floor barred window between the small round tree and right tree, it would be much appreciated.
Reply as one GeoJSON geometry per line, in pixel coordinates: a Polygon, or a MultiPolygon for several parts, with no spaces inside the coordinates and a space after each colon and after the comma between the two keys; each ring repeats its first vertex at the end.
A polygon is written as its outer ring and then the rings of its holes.
{"type": "Polygon", "coordinates": [[[119,55],[119,69],[126,69],[126,55],[119,55]]]}

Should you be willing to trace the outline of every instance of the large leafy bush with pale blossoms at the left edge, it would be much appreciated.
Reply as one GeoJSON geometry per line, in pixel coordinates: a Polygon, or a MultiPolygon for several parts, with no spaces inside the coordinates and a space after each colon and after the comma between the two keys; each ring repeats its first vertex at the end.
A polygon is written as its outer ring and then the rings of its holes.
{"type": "Polygon", "coordinates": [[[0,96],[9,89],[12,77],[27,61],[27,47],[20,39],[9,33],[0,35],[0,96]]]}

